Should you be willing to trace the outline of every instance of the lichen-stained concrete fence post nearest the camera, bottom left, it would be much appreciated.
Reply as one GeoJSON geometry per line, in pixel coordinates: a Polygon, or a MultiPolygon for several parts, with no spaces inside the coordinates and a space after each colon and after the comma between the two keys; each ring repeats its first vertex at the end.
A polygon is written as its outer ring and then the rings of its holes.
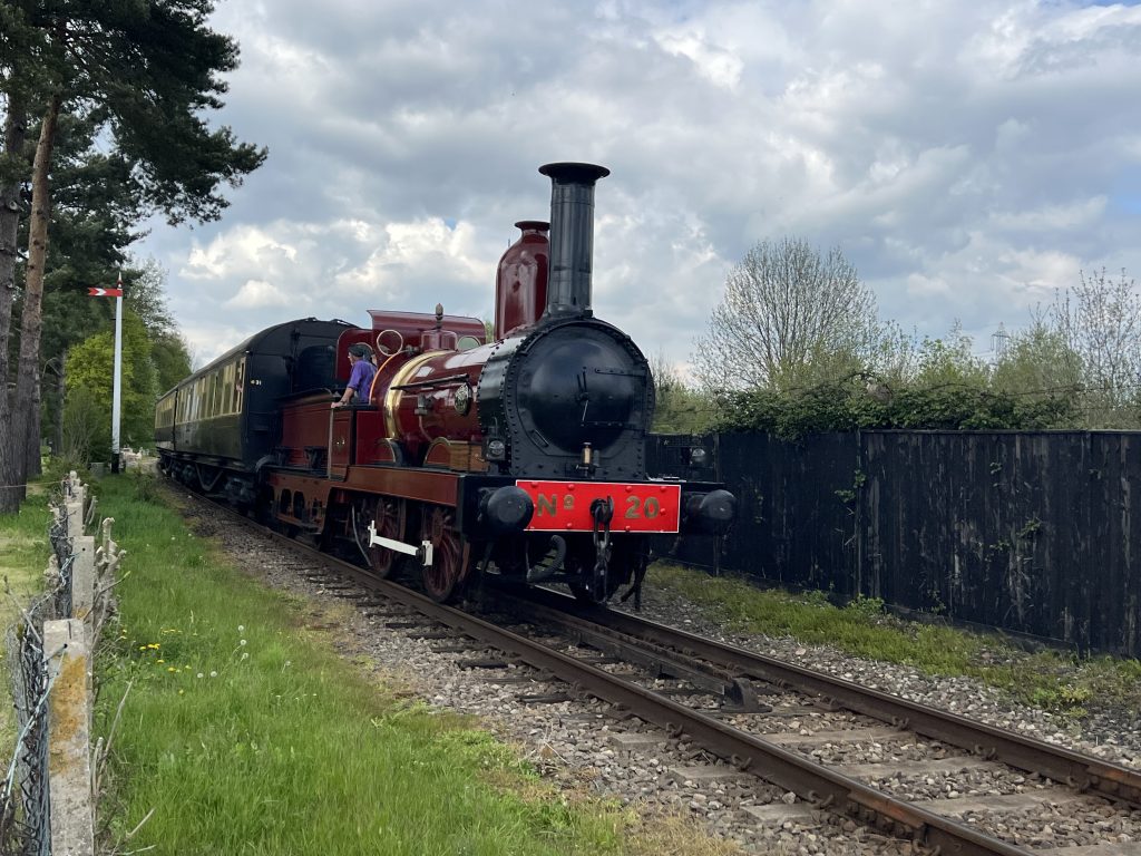
{"type": "Polygon", "coordinates": [[[51,853],[94,856],[91,663],[83,622],[43,622],[43,655],[54,679],[48,700],[51,853]]]}

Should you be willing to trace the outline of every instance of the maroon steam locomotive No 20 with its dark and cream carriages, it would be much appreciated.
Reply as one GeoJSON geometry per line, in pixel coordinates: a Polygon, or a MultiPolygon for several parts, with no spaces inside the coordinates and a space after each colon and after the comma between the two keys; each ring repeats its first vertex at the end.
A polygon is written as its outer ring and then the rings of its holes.
{"type": "Polygon", "coordinates": [[[551,219],[516,224],[493,336],[439,305],[371,310],[369,328],[272,326],[160,398],[160,469],[378,575],[414,564],[437,600],[480,573],[592,601],[640,593],[652,535],[721,531],[735,502],[720,485],[647,476],[649,364],[591,309],[594,186],[609,170],[540,172],[551,219]],[[371,393],[331,409],[358,342],[377,354],[371,393]]]}

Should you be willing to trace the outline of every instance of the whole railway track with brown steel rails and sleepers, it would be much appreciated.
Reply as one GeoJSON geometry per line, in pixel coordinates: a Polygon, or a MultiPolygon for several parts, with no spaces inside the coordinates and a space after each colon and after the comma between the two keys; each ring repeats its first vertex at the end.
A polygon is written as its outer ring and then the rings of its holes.
{"type": "MultiPolygon", "coordinates": [[[[245,518],[240,518],[249,524],[245,518]]],[[[273,534],[273,533],[268,533],[273,534]]],[[[274,535],[275,538],[281,538],[274,535]]],[[[666,628],[625,613],[583,608],[573,598],[548,591],[532,591],[516,598],[515,612],[502,621],[437,604],[402,586],[378,580],[361,567],[311,551],[296,541],[282,539],[293,549],[310,554],[325,570],[317,576],[345,586],[347,597],[365,606],[397,606],[388,613],[394,629],[402,623],[399,611],[412,611],[447,627],[446,632],[423,631],[427,638],[452,639],[453,651],[493,648],[499,654],[469,665],[494,668],[524,663],[537,670],[540,680],[561,681],[570,694],[585,693],[612,705],[617,718],[657,726],[674,741],[704,750],[720,761],[707,772],[678,770],[679,776],[748,776],[776,785],[794,800],[775,800],[752,807],[758,823],[787,818],[819,818],[832,813],[852,818],[914,846],[940,854],[1027,854],[1034,850],[1003,841],[992,834],[984,813],[1026,808],[1030,805],[1065,806],[1074,801],[1104,805],[1116,811],[1138,814],[1141,806],[1141,774],[1061,746],[1029,740],[1003,729],[859,687],[830,676],[800,669],[786,662],[734,648],[703,637],[666,628]],[[337,582],[351,580],[351,584],[337,582]],[[364,591],[354,593],[361,587],[364,591]],[[519,632],[526,622],[537,630],[519,632]],[[559,636],[549,637],[553,628],[559,636]],[[568,641],[568,639],[570,641],[568,641]],[[585,646],[588,651],[583,651],[585,646]],[[642,671],[630,673],[629,667],[642,671]],[[666,678],[670,686],[659,686],[666,678]],[[657,685],[657,686],[656,686],[657,685]],[[790,693],[800,701],[788,703],[790,693]],[[679,701],[682,700],[682,701],[679,701]],[[696,701],[695,701],[696,700],[696,701]],[[777,703],[777,704],[774,704],[777,703]],[[770,708],[776,706],[776,710],[770,708]],[[843,730],[795,734],[766,732],[808,711],[855,714],[843,730]],[[879,726],[863,720],[874,720],[879,726]],[[807,740],[804,740],[807,737],[807,740]],[[1049,782],[1029,794],[1015,798],[989,797],[978,800],[908,800],[874,788],[868,781],[883,778],[893,767],[863,765],[860,769],[827,761],[819,746],[835,748],[848,742],[938,741],[957,746],[966,756],[925,762],[932,772],[955,776],[980,765],[1008,765],[1045,777],[1049,782]],[[1059,786],[1050,786],[1058,783],[1059,786]]],[[[496,608],[508,599],[497,592],[496,608]]],[[[524,697],[541,703],[566,697],[563,693],[524,697]]],[[[803,730],[803,729],[802,729],[803,730]]],[[[631,737],[646,736],[634,725],[631,737]]],[[[649,737],[653,740],[653,737],[649,737]]],[[[661,737],[659,737],[661,738],[661,737]]],[[[965,786],[963,789],[966,790],[965,786]]],[[[1141,818],[1138,818],[1141,821],[1141,818]]],[[[1001,832],[1001,830],[1000,830],[1001,832]]],[[[1057,856],[1134,856],[1136,843],[1102,847],[1054,848],[1057,856]]]]}

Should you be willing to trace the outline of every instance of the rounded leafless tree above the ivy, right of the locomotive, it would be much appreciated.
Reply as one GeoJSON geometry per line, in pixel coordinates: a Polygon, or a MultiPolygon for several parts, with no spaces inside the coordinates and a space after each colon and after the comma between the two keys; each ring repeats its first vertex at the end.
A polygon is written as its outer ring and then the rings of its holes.
{"type": "Polygon", "coordinates": [[[762,241],[729,273],[694,372],[713,389],[788,389],[859,371],[876,340],[875,298],[839,248],[762,241]]]}

